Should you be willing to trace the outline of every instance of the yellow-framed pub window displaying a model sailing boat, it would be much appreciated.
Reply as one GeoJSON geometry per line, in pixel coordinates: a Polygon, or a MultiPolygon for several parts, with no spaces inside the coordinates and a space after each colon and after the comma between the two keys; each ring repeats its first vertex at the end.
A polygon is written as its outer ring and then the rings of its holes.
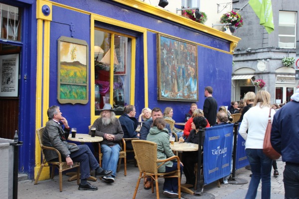
{"type": "Polygon", "coordinates": [[[95,115],[105,103],[113,105],[116,115],[131,103],[133,38],[95,29],[95,115]],[[113,69],[113,70],[111,70],[113,69]]]}

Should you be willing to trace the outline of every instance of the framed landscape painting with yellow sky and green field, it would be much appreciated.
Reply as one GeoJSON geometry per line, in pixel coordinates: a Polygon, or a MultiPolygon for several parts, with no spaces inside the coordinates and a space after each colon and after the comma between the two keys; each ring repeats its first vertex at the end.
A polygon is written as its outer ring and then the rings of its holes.
{"type": "Polygon", "coordinates": [[[60,103],[87,104],[89,47],[85,40],[61,36],[57,40],[57,99],[60,103]]]}

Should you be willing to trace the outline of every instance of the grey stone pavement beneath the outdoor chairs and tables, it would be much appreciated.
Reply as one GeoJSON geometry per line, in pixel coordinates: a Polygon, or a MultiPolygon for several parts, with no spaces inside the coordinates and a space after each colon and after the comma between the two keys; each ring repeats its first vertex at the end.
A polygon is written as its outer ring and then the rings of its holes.
{"type": "MultiPolygon", "coordinates": [[[[284,199],[284,183],[283,171],[285,163],[281,160],[277,161],[277,166],[280,175],[278,177],[271,176],[271,199],[284,199]]],[[[217,182],[204,186],[204,193],[209,193],[215,196],[215,199],[244,199],[250,182],[250,170],[242,168],[236,171],[236,178],[245,179],[248,181],[244,185],[221,184],[217,187],[217,182]]],[[[39,181],[34,185],[33,181],[20,181],[18,183],[18,199],[132,199],[139,176],[139,170],[133,164],[127,165],[127,176],[124,176],[124,167],[118,173],[115,183],[107,184],[103,180],[98,179],[96,182],[90,182],[92,185],[98,187],[98,191],[79,191],[76,181],[68,182],[68,176],[63,176],[63,191],[59,192],[59,178],[58,175],[53,180],[39,181]]],[[[185,176],[182,175],[182,183],[185,183],[185,176]]],[[[163,180],[159,183],[159,196],[161,199],[166,199],[163,196],[163,180]]],[[[140,183],[137,199],[154,199],[156,194],[151,193],[150,190],[143,188],[143,182],[140,183]]],[[[155,191],[155,190],[154,190],[155,191]]],[[[188,198],[188,197],[186,197],[188,198]]],[[[193,198],[193,196],[192,196],[193,198]]],[[[204,196],[197,196],[195,198],[201,199],[204,196]]],[[[261,183],[258,189],[257,199],[261,198],[261,183]]]]}

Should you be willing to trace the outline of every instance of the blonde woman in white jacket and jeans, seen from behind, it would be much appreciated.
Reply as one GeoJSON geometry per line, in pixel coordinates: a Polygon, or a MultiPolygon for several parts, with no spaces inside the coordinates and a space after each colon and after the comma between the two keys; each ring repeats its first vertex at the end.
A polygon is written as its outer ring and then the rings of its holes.
{"type": "MultiPolygon", "coordinates": [[[[245,150],[250,162],[252,177],[245,199],[255,199],[262,179],[262,199],[271,198],[272,159],[263,153],[265,132],[270,112],[270,94],[259,91],[250,108],[243,117],[239,133],[246,140],[245,150]],[[248,134],[246,133],[248,129],[248,134]]],[[[275,110],[271,110],[271,120],[275,110]]]]}

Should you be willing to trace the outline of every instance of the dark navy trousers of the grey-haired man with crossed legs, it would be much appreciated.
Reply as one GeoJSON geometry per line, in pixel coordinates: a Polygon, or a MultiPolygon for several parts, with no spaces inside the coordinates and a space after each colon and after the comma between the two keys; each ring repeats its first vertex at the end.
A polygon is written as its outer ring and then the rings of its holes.
{"type": "MultiPolygon", "coordinates": [[[[80,163],[80,179],[86,179],[90,177],[90,170],[95,170],[99,167],[98,161],[95,156],[92,154],[89,147],[85,144],[78,145],[79,150],[74,151],[70,154],[73,162],[80,163]]],[[[101,168],[102,172],[103,169],[101,168]]]]}

